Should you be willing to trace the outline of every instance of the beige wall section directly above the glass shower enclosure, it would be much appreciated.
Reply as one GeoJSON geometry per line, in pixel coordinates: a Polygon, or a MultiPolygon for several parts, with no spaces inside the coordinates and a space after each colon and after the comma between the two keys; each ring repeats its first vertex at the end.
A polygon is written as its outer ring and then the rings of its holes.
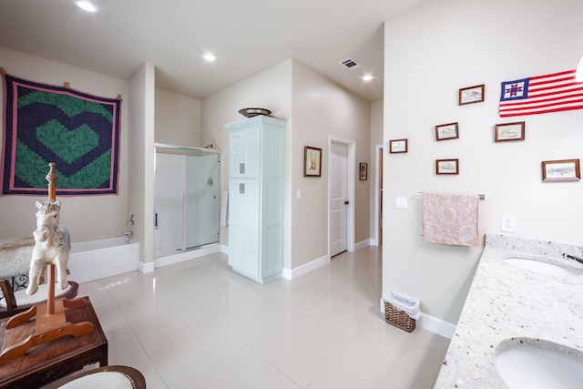
{"type": "Polygon", "coordinates": [[[200,99],[156,89],[156,142],[204,148],[200,141],[200,99]]]}

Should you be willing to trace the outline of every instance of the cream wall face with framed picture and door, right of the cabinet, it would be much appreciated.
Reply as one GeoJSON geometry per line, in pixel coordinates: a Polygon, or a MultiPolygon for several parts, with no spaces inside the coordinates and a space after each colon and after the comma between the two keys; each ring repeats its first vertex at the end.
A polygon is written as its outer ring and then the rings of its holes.
{"type": "MultiPolygon", "coordinates": [[[[328,137],[350,139],[356,143],[354,171],[359,162],[371,163],[370,103],[356,97],[293,61],[292,155],[292,268],[328,255],[328,137]],[[303,177],[303,148],[322,148],[322,177],[303,177]],[[295,193],[302,190],[302,200],[295,193]]],[[[370,177],[370,171],[369,171],[370,177]]],[[[355,242],[367,241],[369,229],[369,188],[372,180],[355,174],[355,242]]]]}

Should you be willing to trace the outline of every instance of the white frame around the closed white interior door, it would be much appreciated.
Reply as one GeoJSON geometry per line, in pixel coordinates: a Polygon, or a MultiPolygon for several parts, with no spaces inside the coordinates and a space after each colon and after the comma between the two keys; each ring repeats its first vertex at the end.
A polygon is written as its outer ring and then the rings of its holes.
{"type": "MultiPolygon", "coordinates": [[[[330,171],[330,150],[332,150],[332,142],[341,143],[346,146],[346,195],[348,200],[348,207],[346,209],[346,250],[354,251],[354,179],[356,179],[356,157],[355,149],[356,142],[351,139],[328,136],[328,171],[330,171]]],[[[326,197],[327,219],[328,219],[328,258],[330,258],[330,184],[331,180],[328,177],[328,193],[326,197]]]]}

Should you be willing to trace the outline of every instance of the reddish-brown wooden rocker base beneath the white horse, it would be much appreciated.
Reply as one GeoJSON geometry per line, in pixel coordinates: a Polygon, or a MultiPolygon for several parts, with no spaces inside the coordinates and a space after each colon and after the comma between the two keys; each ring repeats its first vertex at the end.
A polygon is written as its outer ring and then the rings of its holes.
{"type": "Polygon", "coordinates": [[[21,342],[12,344],[0,353],[0,364],[12,361],[23,356],[32,347],[55,341],[65,336],[81,336],[94,330],[90,322],[66,322],[65,309],[77,309],[86,305],[82,299],[56,299],[54,301],[55,312],[49,313],[47,302],[36,304],[26,312],[13,316],[6,322],[6,328],[14,328],[20,324],[29,322],[36,316],[35,332],[31,333],[21,342]]]}

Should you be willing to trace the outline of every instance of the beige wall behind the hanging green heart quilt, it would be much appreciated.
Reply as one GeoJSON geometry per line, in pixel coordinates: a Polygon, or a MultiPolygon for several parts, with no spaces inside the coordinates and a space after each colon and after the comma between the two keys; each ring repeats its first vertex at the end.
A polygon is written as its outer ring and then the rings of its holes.
{"type": "MultiPolygon", "coordinates": [[[[97,96],[121,95],[119,194],[59,196],[63,203],[61,223],[70,231],[72,241],[94,241],[120,236],[128,219],[128,81],[5,47],[0,47],[0,58],[0,65],[14,77],[56,86],[68,82],[73,89],[97,96]]],[[[0,94],[0,104],[4,111],[4,94],[0,94]]],[[[46,197],[0,196],[0,215],[3,219],[0,223],[0,239],[32,236],[32,231],[36,229],[36,200],[45,201],[46,197]]]]}

